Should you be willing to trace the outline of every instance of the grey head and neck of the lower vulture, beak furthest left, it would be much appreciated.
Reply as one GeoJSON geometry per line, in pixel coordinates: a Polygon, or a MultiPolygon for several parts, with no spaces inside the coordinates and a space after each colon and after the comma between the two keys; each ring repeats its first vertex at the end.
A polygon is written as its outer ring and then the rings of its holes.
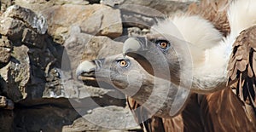
{"type": "MultiPolygon", "coordinates": [[[[151,115],[174,117],[183,110],[189,90],[165,79],[154,77],[136,60],[113,55],[100,60],[85,60],[77,68],[83,80],[96,77],[99,82],[113,85],[145,107],[151,115]]],[[[101,86],[101,83],[99,83],[101,86]]],[[[104,87],[104,86],[101,86],[104,87]]]]}

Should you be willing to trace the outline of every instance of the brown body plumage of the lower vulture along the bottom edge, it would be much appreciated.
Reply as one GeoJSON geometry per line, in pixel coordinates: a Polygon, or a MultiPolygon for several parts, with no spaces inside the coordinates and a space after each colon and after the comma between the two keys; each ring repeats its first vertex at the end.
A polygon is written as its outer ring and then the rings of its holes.
{"type": "MultiPolygon", "coordinates": [[[[153,116],[145,122],[139,120],[145,111],[135,113],[139,107],[136,101],[128,100],[131,112],[144,131],[255,131],[256,121],[252,115],[252,106],[239,100],[231,89],[223,89],[209,95],[191,95],[183,112],[175,118],[153,116]],[[137,104],[135,106],[131,106],[137,104]]],[[[143,109],[143,107],[140,107],[143,109]]]]}

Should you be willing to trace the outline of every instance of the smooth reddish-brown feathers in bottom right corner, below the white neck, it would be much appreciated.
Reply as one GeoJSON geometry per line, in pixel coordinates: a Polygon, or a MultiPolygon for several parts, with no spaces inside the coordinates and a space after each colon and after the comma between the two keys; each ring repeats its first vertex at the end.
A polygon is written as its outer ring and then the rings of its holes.
{"type": "Polygon", "coordinates": [[[201,99],[201,116],[207,132],[214,131],[256,131],[256,121],[251,109],[243,103],[231,89],[223,89],[201,99]]]}

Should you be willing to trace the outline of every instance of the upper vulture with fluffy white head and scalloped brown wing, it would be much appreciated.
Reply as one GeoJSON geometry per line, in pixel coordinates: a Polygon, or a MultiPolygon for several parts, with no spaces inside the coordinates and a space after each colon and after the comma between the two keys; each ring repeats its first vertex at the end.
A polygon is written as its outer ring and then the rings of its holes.
{"type": "Polygon", "coordinates": [[[232,1],[227,12],[230,24],[227,37],[222,37],[209,21],[198,15],[161,20],[147,37],[127,39],[123,52],[144,68],[149,63],[159,63],[157,58],[165,56],[171,78],[161,71],[155,76],[176,84],[190,81],[188,89],[195,93],[212,93],[225,89],[227,82],[236,83],[236,94],[241,100],[248,100],[256,113],[255,12],[256,1],[232,1]]]}

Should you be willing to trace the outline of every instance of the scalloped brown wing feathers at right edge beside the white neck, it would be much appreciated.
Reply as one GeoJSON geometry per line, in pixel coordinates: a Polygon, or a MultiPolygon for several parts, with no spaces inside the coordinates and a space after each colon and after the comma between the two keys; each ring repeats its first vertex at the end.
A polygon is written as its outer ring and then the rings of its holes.
{"type": "Polygon", "coordinates": [[[256,116],[256,26],[242,31],[233,44],[228,66],[228,84],[236,89],[236,95],[253,106],[256,116]]]}

